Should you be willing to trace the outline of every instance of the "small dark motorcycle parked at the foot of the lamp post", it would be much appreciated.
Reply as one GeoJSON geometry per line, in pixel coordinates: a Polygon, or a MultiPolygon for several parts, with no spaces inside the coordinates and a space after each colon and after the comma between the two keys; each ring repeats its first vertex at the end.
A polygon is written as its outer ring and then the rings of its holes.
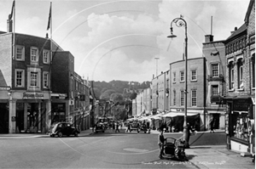
{"type": "Polygon", "coordinates": [[[188,161],[185,154],[185,141],[176,138],[166,138],[163,145],[163,158],[177,160],[177,161],[188,161]]]}

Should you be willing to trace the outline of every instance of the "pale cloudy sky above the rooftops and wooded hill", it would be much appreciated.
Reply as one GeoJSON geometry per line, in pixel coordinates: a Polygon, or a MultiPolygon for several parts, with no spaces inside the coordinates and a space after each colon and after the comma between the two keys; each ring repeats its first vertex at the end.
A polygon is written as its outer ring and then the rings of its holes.
{"type": "MultiPolygon", "coordinates": [[[[202,43],[225,40],[245,19],[249,0],[16,0],[15,32],[45,37],[52,2],[52,39],[74,57],[75,71],[90,81],[145,82],[183,59],[203,57],[202,43]],[[212,21],[211,21],[212,20],[212,21]],[[212,23],[212,24],[211,24],[212,23]]],[[[0,0],[0,31],[7,30],[13,0],[0,0]]]]}

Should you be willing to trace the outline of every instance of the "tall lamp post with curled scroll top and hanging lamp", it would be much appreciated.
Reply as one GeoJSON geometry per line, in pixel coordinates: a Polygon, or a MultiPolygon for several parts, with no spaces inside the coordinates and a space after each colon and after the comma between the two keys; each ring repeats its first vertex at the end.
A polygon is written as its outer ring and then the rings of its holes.
{"type": "Polygon", "coordinates": [[[168,36],[168,38],[173,38],[177,37],[176,35],[172,34],[172,23],[175,23],[177,27],[185,27],[185,54],[184,54],[184,59],[185,59],[185,90],[184,90],[184,95],[185,95],[185,100],[184,100],[184,106],[185,106],[185,114],[184,114],[184,123],[183,123],[183,140],[185,141],[185,146],[189,148],[189,126],[187,123],[187,89],[188,89],[188,36],[187,36],[187,22],[183,20],[183,16],[181,15],[179,18],[176,18],[172,20],[171,22],[171,35],[168,36]]]}

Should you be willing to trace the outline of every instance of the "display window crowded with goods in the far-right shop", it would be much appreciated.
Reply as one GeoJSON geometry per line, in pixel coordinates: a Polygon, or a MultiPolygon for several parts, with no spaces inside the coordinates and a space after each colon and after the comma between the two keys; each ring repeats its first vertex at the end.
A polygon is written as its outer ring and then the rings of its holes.
{"type": "Polygon", "coordinates": [[[232,115],[233,120],[235,120],[235,123],[233,124],[233,132],[234,132],[234,138],[240,138],[242,140],[248,141],[249,135],[248,135],[248,120],[247,113],[241,113],[241,112],[234,112],[232,115]]]}

